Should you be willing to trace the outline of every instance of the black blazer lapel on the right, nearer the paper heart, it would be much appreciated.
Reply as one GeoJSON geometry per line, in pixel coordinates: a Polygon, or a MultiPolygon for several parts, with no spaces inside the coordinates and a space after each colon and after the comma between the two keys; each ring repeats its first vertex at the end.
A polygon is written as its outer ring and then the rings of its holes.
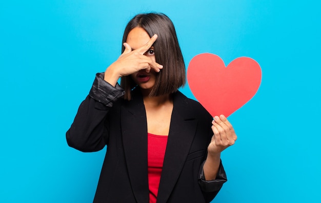
{"type": "Polygon", "coordinates": [[[163,171],[159,183],[157,203],[167,202],[183,169],[197,125],[197,121],[187,111],[187,100],[182,93],[177,92],[174,94],[173,103],[174,108],[163,171]]]}

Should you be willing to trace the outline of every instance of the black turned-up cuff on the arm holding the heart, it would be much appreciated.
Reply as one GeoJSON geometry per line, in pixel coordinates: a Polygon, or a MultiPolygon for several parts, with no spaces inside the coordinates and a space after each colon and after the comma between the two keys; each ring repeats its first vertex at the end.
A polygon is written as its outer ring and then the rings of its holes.
{"type": "Polygon", "coordinates": [[[223,168],[222,161],[220,161],[219,163],[219,168],[218,168],[218,172],[215,180],[205,180],[204,170],[203,170],[204,163],[205,161],[203,162],[203,164],[200,166],[200,169],[199,169],[198,184],[200,186],[200,189],[202,189],[204,192],[219,191],[220,188],[222,188],[224,182],[227,181],[226,173],[223,168]]]}

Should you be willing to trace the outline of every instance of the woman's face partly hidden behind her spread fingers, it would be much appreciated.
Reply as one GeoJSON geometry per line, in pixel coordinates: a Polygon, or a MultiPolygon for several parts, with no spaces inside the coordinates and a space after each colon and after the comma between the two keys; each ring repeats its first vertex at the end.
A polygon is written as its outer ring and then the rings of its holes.
{"type": "MultiPolygon", "coordinates": [[[[129,44],[132,50],[135,50],[143,47],[149,39],[149,35],[143,28],[136,27],[128,33],[126,43],[129,44]]],[[[144,55],[150,57],[154,62],[156,61],[153,47],[145,52],[144,55]]],[[[151,69],[149,73],[145,70],[135,72],[131,74],[131,77],[146,95],[149,94],[156,82],[156,72],[153,71],[153,69],[151,69]]]]}

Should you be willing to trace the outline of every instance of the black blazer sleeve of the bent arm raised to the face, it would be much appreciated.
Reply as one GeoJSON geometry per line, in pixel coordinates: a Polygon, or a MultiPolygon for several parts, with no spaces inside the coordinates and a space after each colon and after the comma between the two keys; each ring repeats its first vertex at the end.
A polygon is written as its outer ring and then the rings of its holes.
{"type": "Polygon", "coordinates": [[[117,84],[113,87],[104,80],[104,73],[97,73],[89,95],[78,108],[70,129],[67,143],[83,152],[99,151],[108,144],[105,126],[107,113],[125,91],[117,84]]]}

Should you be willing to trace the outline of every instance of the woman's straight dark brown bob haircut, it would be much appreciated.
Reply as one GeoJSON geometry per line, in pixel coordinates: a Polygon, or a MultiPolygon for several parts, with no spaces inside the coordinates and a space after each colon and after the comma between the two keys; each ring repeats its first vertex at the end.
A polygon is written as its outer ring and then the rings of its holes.
{"type": "MultiPolygon", "coordinates": [[[[127,24],[123,43],[127,40],[128,33],[135,27],[143,28],[150,37],[157,34],[153,44],[155,59],[163,69],[156,75],[156,82],[149,96],[171,94],[183,87],[186,82],[185,64],[180,51],[176,31],[172,21],[163,13],[144,13],[134,16],[127,24]]],[[[122,53],[125,47],[122,46],[122,53]]],[[[122,76],[121,87],[125,90],[124,98],[131,99],[131,90],[136,87],[130,75],[122,76]]]]}

